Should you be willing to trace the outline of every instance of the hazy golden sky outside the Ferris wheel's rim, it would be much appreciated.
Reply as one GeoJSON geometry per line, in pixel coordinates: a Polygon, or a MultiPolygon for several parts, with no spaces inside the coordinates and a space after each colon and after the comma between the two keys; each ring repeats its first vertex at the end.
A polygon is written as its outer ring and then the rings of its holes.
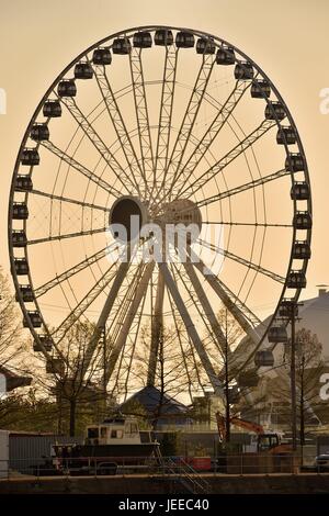
{"type": "MultiPolygon", "coordinates": [[[[237,45],[271,77],[298,127],[314,199],[313,259],[305,298],[328,272],[329,114],[319,92],[329,87],[329,2],[280,0],[0,0],[0,263],[9,270],[7,205],[12,169],[30,117],[61,69],[80,52],[116,31],[147,24],[186,26],[237,45]]],[[[260,300],[261,303],[261,300],[260,300]]]]}

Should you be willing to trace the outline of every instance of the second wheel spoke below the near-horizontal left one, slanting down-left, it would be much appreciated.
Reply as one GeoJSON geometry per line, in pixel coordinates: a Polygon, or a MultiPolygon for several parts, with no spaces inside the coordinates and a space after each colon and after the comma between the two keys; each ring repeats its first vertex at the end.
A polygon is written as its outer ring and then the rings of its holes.
{"type": "Polygon", "coordinates": [[[92,285],[81,301],[70,311],[69,315],[59,324],[59,326],[53,332],[52,337],[58,344],[65,338],[68,330],[80,319],[84,312],[91,306],[91,304],[98,299],[98,296],[104,291],[109,283],[115,277],[116,262],[111,263],[107,270],[101,276],[101,278],[92,285]]]}

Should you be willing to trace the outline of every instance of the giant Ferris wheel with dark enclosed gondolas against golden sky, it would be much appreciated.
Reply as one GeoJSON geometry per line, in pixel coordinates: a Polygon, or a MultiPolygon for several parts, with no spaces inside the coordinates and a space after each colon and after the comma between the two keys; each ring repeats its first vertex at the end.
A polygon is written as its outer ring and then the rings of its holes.
{"type": "Polygon", "coordinates": [[[273,366],[273,346],[286,340],[310,257],[306,158],[288,108],[243,52],[201,31],[129,29],[81,53],[41,100],[15,162],[8,225],[16,300],[49,370],[60,374],[67,333],[90,321],[82,374],[104,334],[105,381],[127,395],[138,388],[143,328],[154,385],[170,327],[190,392],[208,385],[220,395],[218,311],[248,343],[229,349],[236,379],[273,366]],[[134,215],[147,229],[133,239],[134,215]],[[196,226],[185,259],[177,240],[162,259],[145,259],[164,246],[151,224],[196,226]]]}

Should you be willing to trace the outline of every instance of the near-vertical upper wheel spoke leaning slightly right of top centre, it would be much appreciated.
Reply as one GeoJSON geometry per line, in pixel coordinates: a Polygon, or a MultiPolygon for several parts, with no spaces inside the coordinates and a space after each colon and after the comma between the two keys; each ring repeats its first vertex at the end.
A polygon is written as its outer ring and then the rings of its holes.
{"type": "Polygon", "coordinates": [[[174,45],[166,46],[154,184],[156,175],[161,178],[168,165],[178,56],[179,49],[174,45]]]}

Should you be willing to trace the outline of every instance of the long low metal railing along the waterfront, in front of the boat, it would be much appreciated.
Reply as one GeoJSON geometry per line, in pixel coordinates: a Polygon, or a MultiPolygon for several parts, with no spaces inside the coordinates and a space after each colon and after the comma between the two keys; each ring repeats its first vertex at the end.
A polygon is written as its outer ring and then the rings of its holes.
{"type": "MultiPolygon", "coordinates": [[[[208,458],[209,459],[209,458],[208,458]]],[[[189,463],[183,456],[179,457],[48,457],[15,459],[15,470],[10,469],[9,460],[0,459],[1,480],[14,480],[18,478],[33,476],[104,476],[122,475],[131,476],[143,474],[146,476],[160,476],[184,485],[191,493],[208,493],[207,480],[220,475],[249,475],[249,474],[303,474],[303,473],[329,473],[329,465],[315,464],[315,458],[309,458],[308,463],[302,465],[300,455],[284,453],[274,456],[271,453],[226,453],[211,459],[208,469],[197,470],[189,463]]],[[[195,459],[194,459],[195,461],[195,459]]]]}

